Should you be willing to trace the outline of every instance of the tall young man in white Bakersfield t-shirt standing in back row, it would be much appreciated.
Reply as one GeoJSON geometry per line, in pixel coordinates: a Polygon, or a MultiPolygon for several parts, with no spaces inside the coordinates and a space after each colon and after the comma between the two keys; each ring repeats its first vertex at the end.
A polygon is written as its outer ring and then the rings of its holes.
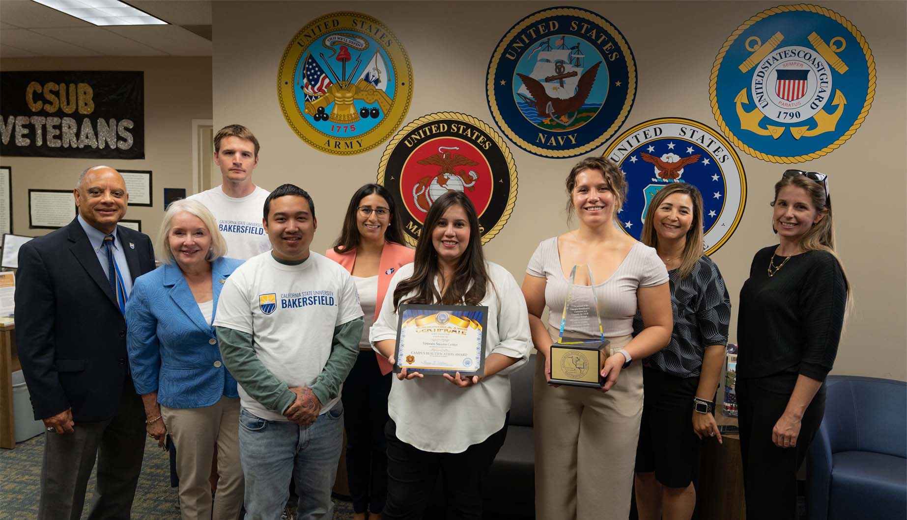
{"type": "Polygon", "coordinates": [[[258,149],[258,140],[242,125],[218,130],[214,136],[214,164],[220,168],[222,183],[188,197],[208,207],[217,219],[230,258],[249,260],[271,248],[261,226],[261,207],[268,190],[252,183],[252,170],[258,166],[258,149]]]}

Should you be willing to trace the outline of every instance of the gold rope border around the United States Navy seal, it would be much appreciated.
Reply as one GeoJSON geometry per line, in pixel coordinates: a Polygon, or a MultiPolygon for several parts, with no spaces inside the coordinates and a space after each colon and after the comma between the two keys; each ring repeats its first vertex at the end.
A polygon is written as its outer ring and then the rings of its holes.
{"type": "MultiPolygon", "coordinates": [[[[485,92],[488,96],[488,107],[489,107],[490,111],[492,112],[492,119],[498,125],[498,127],[507,135],[507,137],[513,141],[514,144],[521,147],[522,149],[525,149],[526,151],[529,151],[529,152],[531,152],[535,155],[539,155],[541,157],[568,158],[568,157],[576,157],[576,156],[582,155],[592,149],[599,148],[602,144],[604,144],[604,142],[606,140],[609,140],[610,137],[613,136],[614,133],[617,132],[617,130],[619,130],[621,126],[623,126],[623,123],[626,122],[626,120],[627,120],[627,116],[629,115],[630,109],[633,108],[633,102],[636,101],[636,82],[637,81],[638,81],[638,78],[637,78],[637,74],[636,74],[636,58],[633,56],[632,51],[630,51],[627,40],[624,38],[623,34],[620,34],[620,32],[618,31],[617,25],[611,24],[610,21],[608,19],[606,19],[604,16],[602,16],[601,14],[592,12],[592,11],[587,11],[584,9],[583,10],[574,9],[571,7],[559,7],[559,8],[542,10],[535,14],[530,14],[528,17],[524,18],[521,23],[514,25],[513,27],[511,27],[510,31],[508,31],[506,34],[504,34],[503,38],[501,39],[501,43],[498,43],[498,46],[494,49],[491,63],[488,64],[488,74],[485,79],[485,92]],[[624,106],[620,110],[620,113],[618,114],[617,119],[614,120],[613,123],[611,123],[611,126],[608,128],[608,130],[605,130],[598,139],[593,140],[590,143],[585,144],[581,147],[571,149],[569,151],[568,150],[543,149],[543,148],[537,147],[533,144],[529,144],[526,140],[523,140],[520,136],[516,135],[516,133],[513,130],[511,130],[510,126],[507,125],[507,122],[504,120],[504,118],[501,115],[501,111],[498,110],[498,103],[494,97],[494,74],[491,73],[492,71],[497,71],[498,62],[501,61],[501,55],[503,53],[503,49],[506,48],[506,44],[504,44],[504,42],[511,41],[513,34],[519,33],[522,30],[522,28],[528,26],[529,24],[532,24],[533,22],[540,20],[542,17],[554,16],[554,15],[559,15],[559,14],[567,15],[567,16],[578,16],[585,20],[589,20],[590,22],[600,24],[600,27],[604,28],[608,32],[608,34],[611,35],[611,37],[614,39],[614,41],[618,43],[618,46],[620,47],[620,51],[623,53],[624,59],[627,61],[627,75],[629,76],[628,82],[627,82],[627,98],[624,100],[624,106]],[[595,16],[595,18],[593,18],[592,16],[595,16]]],[[[610,85],[609,85],[609,87],[610,87],[610,85]]],[[[609,91],[610,91],[610,88],[609,88],[609,91]]]]}

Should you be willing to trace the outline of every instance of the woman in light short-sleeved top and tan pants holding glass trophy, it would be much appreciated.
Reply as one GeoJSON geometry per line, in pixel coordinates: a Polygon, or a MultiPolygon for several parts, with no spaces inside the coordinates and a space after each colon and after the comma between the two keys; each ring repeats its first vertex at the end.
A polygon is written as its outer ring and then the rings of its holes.
{"type": "Polygon", "coordinates": [[[670,340],[668,270],[655,249],[620,229],[627,185],[617,165],[583,159],[571,169],[566,188],[568,215],[575,214],[580,226],[542,241],[522,284],[532,342],[544,359],[536,363],[533,385],[536,518],[624,520],[643,400],[642,366],[632,361],[670,340]],[[576,284],[578,274],[588,284],[576,284]],[[541,321],[546,306],[547,326],[541,321]],[[647,326],[632,337],[637,311],[647,326]],[[592,319],[576,319],[583,314],[592,319]],[[576,360],[551,359],[551,346],[571,320],[587,323],[571,334],[609,342],[599,390],[546,384],[552,365],[562,371],[573,362],[575,368],[576,360]]]}

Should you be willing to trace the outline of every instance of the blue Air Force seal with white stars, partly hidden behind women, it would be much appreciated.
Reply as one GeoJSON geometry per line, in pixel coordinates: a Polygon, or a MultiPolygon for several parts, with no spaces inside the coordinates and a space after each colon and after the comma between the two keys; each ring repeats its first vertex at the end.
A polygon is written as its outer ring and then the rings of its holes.
{"type": "Polygon", "coordinates": [[[620,209],[623,230],[637,240],[658,190],[688,182],[702,192],[707,255],[734,233],[746,203],[746,177],[740,158],[716,130],[694,121],[664,118],[641,123],[605,149],[627,178],[627,200],[620,209]]]}

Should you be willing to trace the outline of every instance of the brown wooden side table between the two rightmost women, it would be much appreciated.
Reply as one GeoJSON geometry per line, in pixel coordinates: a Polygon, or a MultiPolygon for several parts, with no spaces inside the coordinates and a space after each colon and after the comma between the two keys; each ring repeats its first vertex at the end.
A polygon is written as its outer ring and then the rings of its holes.
{"type": "MultiPolygon", "coordinates": [[[[719,426],[736,425],[736,419],[719,414],[719,426]]],[[[740,436],[721,436],[723,444],[709,441],[702,448],[697,509],[701,520],[746,520],[740,436]]]]}

